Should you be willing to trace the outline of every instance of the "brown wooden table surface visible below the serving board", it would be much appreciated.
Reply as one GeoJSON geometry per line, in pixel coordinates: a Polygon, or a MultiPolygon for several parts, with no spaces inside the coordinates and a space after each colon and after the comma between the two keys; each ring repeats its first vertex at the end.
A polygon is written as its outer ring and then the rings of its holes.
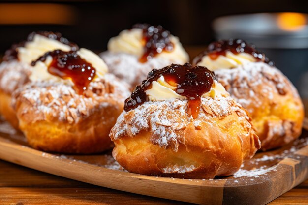
{"type": "MultiPolygon", "coordinates": [[[[103,188],[32,170],[0,160],[0,205],[179,205],[159,199],[103,188]]],[[[308,204],[308,180],[270,205],[308,204]]]]}

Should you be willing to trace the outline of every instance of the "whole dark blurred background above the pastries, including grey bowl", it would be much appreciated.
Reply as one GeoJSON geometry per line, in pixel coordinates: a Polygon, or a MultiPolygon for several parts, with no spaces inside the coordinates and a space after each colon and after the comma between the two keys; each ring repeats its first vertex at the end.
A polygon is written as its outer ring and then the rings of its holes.
{"type": "Polygon", "coordinates": [[[101,52],[121,30],[149,23],[178,36],[191,58],[215,39],[254,43],[308,98],[306,13],[299,0],[0,0],[0,55],[36,30],[101,52]]]}

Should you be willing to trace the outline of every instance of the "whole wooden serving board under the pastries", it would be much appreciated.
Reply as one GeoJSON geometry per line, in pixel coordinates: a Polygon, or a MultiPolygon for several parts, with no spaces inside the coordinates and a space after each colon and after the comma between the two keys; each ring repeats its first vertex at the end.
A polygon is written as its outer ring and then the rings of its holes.
{"type": "MultiPolygon", "coordinates": [[[[305,119],[308,128],[308,119],[305,119]]],[[[42,172],[122,191],[196,204],[266,204],[308,178],[308,131],[280,149],[260,152],[234,176],[176,179],[126,172],[111,153],[57,155],[27,146],[0,120],[0,159],[42,172]]],[[[1,168],[0,168],[1,169],[1,168]]]]}

